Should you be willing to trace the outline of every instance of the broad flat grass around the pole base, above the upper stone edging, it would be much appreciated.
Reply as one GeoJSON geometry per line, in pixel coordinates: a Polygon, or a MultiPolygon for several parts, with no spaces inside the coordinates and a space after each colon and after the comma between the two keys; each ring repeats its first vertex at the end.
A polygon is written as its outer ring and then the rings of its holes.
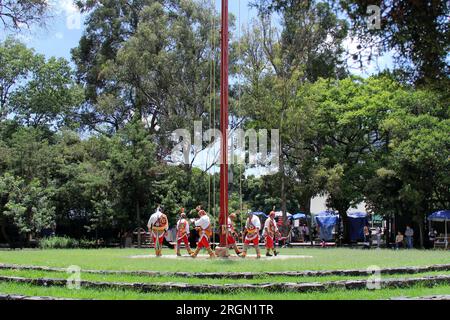
{"type": "MultiPolygon", "coordinates": [[[[132,255],[153,253],[150,249],[99,250],[16,250],[0,251],[0,263],[40,265],[67,268],[104,270],[154,270],[188,272],[261,272],[330,269],[365,269],[380,267],[421,266],[450,263],[450,252],[432,250],[361,250],[361,249],[283,249],[282,254],[308,255],[312,258],[287,260],[190,260],[131,259],[132,255]]],[[[173,250],[164,250],[173,254],[173,250]]],[[[253,254],[253,251],[250,251],[253,254]]]]}

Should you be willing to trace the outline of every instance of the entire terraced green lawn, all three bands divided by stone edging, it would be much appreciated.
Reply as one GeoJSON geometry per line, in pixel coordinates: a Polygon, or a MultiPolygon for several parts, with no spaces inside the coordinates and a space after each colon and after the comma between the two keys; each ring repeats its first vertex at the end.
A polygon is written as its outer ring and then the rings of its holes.
{"type": "MultiPolygon", "coordinates": [[[[0,263],[18,265],[36,265],[67,268],[71,265],[82,269],[96,270],[151,270],[151,271],[187,271],[187,272],[259,272],[259,271],[302,271],[334,269],[366,269],[369,266],[401,267],[427,266],[450,263],[450,252],[422,250],[362,250],[362,249],[283,249],[284,255],[311,256],[311,258],[279,260],[209,260],[190,258],[149,258],[132,259],[131,256],[152,254],[150,249],[99,249],[99,250],[16,250],[0,251],[0,263]]],[[[173,255],[173,250],[164,250],[173,255]]],[[[250,251],[250,254],[254,252],[250,251]]],[[[408,275],[384,275],[386,278],[413,278],[429,275],[449,275],[450,271],[423,272],[408,275]]],[[[64,272],[34,270],[0,270],[0,275],[26,278],[62,278],[64,272]]],[[[255,279],[200,279],[170,276],[139,275],[102,275],[81,274],[82,280],[104,282],[145,282],[145,283],[191,283],[191,284],[232,284],[232,283],[267,283],[267,282],[323,282],[335,280],[366,279],[363,276],[324,276],[324,277],[259,277],[255,279]]],[[[189,292],[140,293],[131,290],[82,288],[70,290],[61,287],[42,287],[37,285],[0,282],[0,293],[22,294],[30,296],[54,296],[81,299],[157,299],[157,300],[206,300],[206,299],[388,299],[399,296],[450,295],[449,285],[436,285],[432,288],[416,286],[408,289],[382,290],[331,290],[327,292],[292,293],[276,292],[237,292],[233,294],[203,294],[189,292]]]]}

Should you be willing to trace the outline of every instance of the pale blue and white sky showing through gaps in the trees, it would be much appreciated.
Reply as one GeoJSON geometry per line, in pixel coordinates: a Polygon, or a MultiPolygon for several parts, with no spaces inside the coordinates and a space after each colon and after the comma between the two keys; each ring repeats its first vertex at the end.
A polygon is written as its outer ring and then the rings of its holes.
{"type": "MultiPolygon", "coordinates": [[[[216,1],[217,12],[220,12],[221,0],[216,1]]],[[[29,31],[22,31],[15,37],[24,42],[28,47],[34,48],[37,53],[46,57],[62,57],[71,60],[71,49],[78,45],[84,30],[85,16],[81,15],[73,5],[73,0],[49,0],[52,7],[53,17],[48,21],[45,29],[32,27],[29,31]]],[[[231,0],[229,2],[229,11],[236,17],[236,22],[241,28],[248,25],[250,19],[256,16],[255,9],[249,8],[249,0],[231,0]]],[[[0,40],[4,40],[6,34],[0,34],[0,40]]],[[[350,38],[345,41],[345,47],[349,52],[355,52],[358,44],[350,38]]],[[[351,65],[352,61],[349,60],[351,65]]],[[[392,55],[386,54],[379,57],[377,61],[366,65],[363,70],[351,68],[351,72],[363,77],[377,73],[379,70],[392,67],[392,55]]],[[[210,152],[209,157],[217,153],[217,150],[210,152]]],[[[197,156],[195,165],[204,168],[207,162],[208,152],[197,156]]],[[[209,162],[211,160],[208,160],[209,162]]],[[[251,169],[247,174],[259,175],[259,169],[251,169]]],[[[325,198],[318,197],[313,199],[312,212],[325,210],[325,198]]],[[[363,209],[363,205],[359,208],[363,209]]]]}

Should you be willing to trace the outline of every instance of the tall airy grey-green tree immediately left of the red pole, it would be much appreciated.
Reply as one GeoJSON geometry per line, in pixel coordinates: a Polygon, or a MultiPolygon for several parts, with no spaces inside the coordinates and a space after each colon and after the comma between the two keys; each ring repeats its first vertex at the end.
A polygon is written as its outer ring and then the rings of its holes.
{"type": "Polygon", "coordinates": [[[170,133],[192,129],[208,113],[211,43],[219,39],[211,9],[175,0],[97,1],[85,9],[86,33],[73,51],[87,88],[85,122],[112,134],[139,116],[166,158],[170,133]]]}

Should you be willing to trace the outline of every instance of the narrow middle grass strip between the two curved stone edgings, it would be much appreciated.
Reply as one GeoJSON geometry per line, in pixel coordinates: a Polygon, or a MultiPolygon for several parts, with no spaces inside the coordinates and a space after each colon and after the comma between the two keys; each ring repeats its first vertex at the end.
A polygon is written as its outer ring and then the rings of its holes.
{"type": "MultiPolygon", "coordinates": [[[[9,277],[23,277],[23,278],[54,278],[66,279],[67,273],[64,272],[46,272],[34,270],[0,270],[0,275],[9,277]]],[[[439,272],[424,272],[420,274],[395,274],[383,275],[382,279],[392,278],[416,278],[423,276],[437,276],[450,275],[450,271],[439,272]]],[[[148,276],[134,276],[134,275],[100,275],[82,273],[81,280],[99,281],[99,282],[128,282],[128,283],[164,283],[177,282],[189,284],[261,284],[261,283],[276,283],[276,282],[327,282],[338,280],[366,280],[364,276],[325,276],[325,277],[261,277],[256,279],[201,279],[201,278],[183,278],[183,277],[148,277],[148,276]]]]}

